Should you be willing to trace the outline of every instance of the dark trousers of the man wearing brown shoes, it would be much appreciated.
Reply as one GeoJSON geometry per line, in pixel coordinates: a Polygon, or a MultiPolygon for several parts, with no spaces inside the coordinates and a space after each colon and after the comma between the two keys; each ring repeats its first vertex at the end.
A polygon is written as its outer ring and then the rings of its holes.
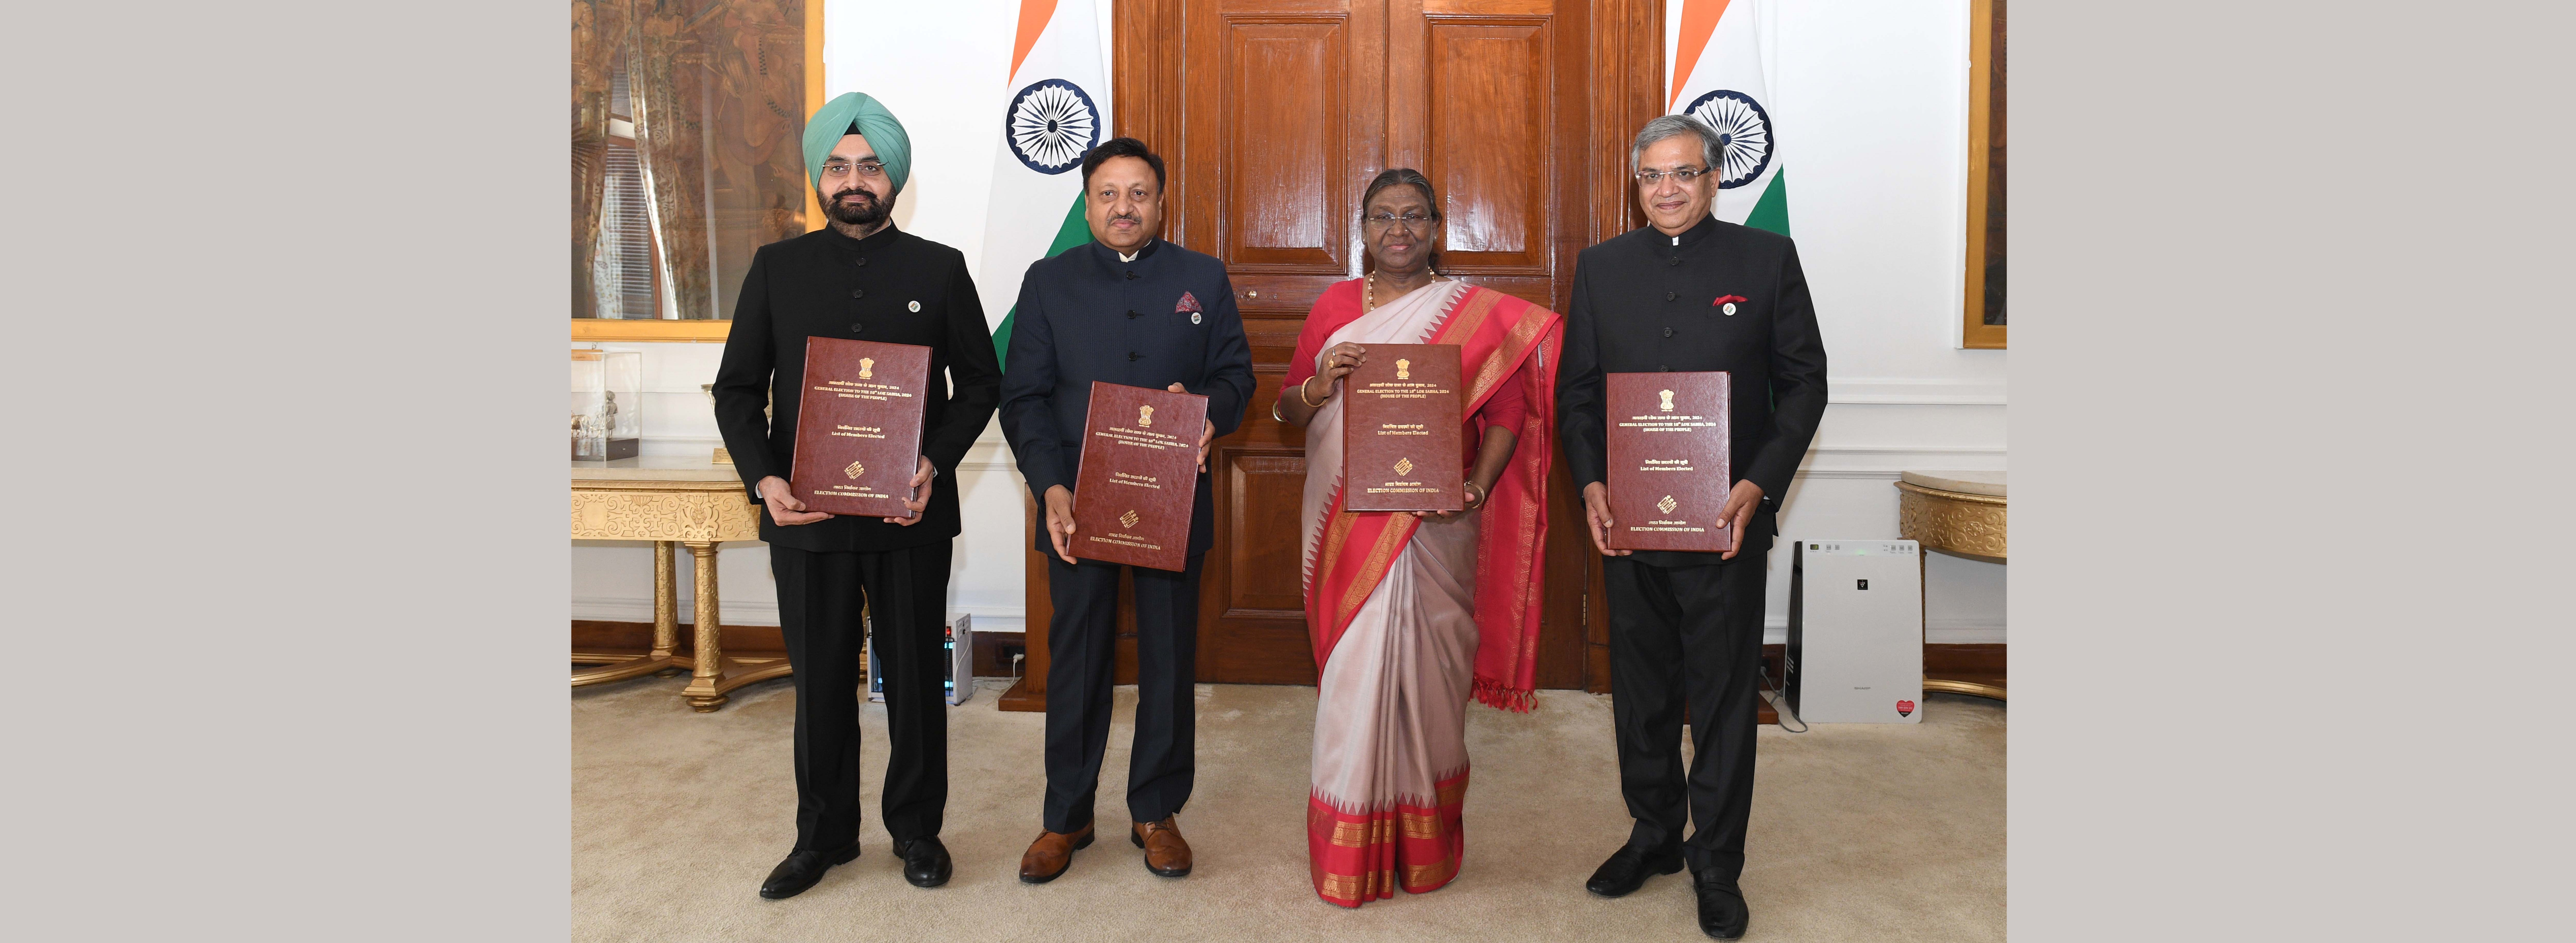
{"type": "Polygon", "coordinates": [[[1110,745],[1118,667],[1118,569],[1136,572],[1136,745],[1128,819],[1162,822],[1190,801],[1198,773],[1198,567],[1182,572],[1046,557],[1046,830],[1092,822],[1100,755],[1110,745]]]}

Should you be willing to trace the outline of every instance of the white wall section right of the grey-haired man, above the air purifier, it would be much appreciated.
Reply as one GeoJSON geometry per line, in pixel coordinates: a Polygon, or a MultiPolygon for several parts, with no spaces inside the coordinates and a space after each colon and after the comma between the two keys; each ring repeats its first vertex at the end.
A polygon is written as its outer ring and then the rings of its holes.
{"type": "MultiPolygon", "coordinates": [[[[1783,536],[1896,536],[1896,472],[2004,469],[2004,350],[1960,350],[1968,3],[1767,0],[1790,234],[1832,405],[1783,536]]],[[[1932,554],[1932,642],[2004,642],[2004,567],[1932,554]]],[[[1770,616],[1788,621],[1788,549],[1770,616]]]]}

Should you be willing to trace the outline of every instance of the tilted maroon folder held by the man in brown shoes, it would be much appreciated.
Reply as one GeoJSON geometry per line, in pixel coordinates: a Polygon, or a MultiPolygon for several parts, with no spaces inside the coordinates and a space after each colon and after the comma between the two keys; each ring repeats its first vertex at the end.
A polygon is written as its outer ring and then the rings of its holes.
{"type": "Polygon", "coordinates": [[[1074,479],[1074,557],[1185,569],[1208,397],[1092,384],[1074,479]]]}

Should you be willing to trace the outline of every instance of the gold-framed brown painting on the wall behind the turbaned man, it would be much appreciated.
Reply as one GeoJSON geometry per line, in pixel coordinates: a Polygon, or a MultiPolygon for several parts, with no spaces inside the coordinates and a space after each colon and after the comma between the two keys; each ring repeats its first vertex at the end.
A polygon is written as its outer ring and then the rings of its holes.
{"type": "Polygon", "coordinates": [[[572,0],[572,340],[721,343],[819,106],[822,0],[572,0]]]}

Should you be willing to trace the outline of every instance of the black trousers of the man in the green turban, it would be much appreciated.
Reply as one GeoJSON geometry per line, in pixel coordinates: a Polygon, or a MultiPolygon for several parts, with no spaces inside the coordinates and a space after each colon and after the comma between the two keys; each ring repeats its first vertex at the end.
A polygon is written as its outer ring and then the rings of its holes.
{"type": "Polygon", "coordinates": [[[796,848],[840,850],[858,840],[858,654],[876,624],[886,678],[886,835],[940,832],[948,809],[948,626],[951,541],[884,554],[819,554],[770,544],[778,631],[796,665],[796,848]]]}

